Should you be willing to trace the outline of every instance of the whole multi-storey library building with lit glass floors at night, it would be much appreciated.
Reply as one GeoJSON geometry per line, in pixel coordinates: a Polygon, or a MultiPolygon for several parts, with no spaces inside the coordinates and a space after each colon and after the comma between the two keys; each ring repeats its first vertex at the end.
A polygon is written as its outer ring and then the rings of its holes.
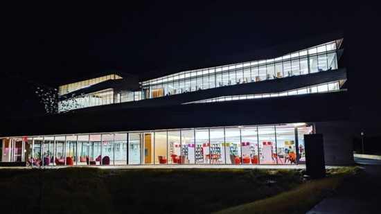
{"type": "Polygon", "coordinates": [[[4,118],[0,166],[296,165],[308,134],[323,134],[327,165],[351,165],[342,41],[323,35],[37,89],[49,113],[4,118]]]}

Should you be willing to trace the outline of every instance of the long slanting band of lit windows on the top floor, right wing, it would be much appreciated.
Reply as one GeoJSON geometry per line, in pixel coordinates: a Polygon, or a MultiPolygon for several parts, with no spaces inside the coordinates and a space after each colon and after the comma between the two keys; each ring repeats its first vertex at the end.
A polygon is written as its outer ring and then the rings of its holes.
{"type": "Polygon", "coordinates": [[[273,80],[337,69],[335,42],[269,60],[184,71],[143,82],[143,98],[169,96],[188,91],[233,84],[273,80]],[[157,91],[162,91],[158,93],[157,91]],[[152,96],[154,94],[154,96],[152,96]]]}

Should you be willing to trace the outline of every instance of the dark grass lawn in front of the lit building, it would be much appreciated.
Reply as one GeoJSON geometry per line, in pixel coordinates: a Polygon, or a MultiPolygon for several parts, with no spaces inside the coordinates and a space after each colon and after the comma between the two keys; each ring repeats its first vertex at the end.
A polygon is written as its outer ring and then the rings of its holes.
{"type": "MultiPolygon", "coordinates": [[[[0,169],[2,211],[211,213],[305,186],[300,170],[0,169]]],[[[333,176],[334,177],[334,176],[333,176]]],[[[299,204],[297,204],[299,206],[299,204]]]]}

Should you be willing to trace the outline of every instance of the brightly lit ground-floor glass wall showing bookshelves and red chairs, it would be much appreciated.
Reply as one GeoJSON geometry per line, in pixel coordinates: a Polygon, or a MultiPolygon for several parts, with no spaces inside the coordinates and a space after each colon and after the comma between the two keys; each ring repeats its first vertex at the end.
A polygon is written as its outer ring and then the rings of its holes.
{"type": "Polygon", "coordinates": [[[312,124],[208,127],[1,139],[1,161],[31,165],[296,164],[312,124]]]}

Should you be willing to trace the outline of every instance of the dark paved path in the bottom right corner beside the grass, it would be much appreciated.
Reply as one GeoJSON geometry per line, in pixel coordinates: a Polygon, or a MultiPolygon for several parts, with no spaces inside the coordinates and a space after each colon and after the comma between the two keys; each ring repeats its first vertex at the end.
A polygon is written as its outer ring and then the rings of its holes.
{"type": "Polygon", "coordinates": [[[355,158],[361,168],[308,214],[381,213],[381,161],[355,158]]]}

